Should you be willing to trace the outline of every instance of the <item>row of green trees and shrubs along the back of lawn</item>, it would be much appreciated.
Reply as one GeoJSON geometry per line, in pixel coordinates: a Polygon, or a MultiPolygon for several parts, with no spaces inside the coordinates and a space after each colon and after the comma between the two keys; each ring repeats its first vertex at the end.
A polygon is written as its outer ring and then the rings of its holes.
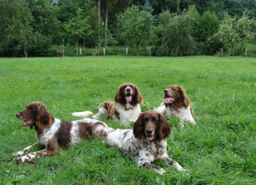
{"type": "Polygon", "coordinates": [[[251,0],[0,0],[0,56],[255,56],[255,17],[251,0]]]}

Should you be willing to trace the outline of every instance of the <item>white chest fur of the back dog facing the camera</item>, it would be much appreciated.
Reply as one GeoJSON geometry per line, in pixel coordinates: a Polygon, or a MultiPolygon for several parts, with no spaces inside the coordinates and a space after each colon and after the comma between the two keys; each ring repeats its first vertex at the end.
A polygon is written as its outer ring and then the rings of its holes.
{"type": "MultiPolygon", "coordinates": [[[[141,113],[139,104],[132,106],[131,104],[127,103],[126,107],[122,106],[121,104],[117,104],[116,110],[119,112],[119,121],[125,126],[129,126],[130,122],[132,121],[135,122],[141,113]]],[[[113,118],[113,120],[116,120],[116,118],[113,118]]]]}

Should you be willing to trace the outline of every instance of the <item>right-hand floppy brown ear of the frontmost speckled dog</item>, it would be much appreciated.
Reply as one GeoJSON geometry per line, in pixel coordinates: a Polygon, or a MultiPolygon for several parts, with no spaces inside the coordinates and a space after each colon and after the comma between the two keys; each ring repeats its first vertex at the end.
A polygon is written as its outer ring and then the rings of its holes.
{"type": "Polygon", "coordinates": [[[168,121],[165,119],[163,114],[158,112],[158,125],[157,125],[157,131],[156,131],[156,137],[159,140],[167,138],[171,131],[170,131],[170,125],[168,121]]]}

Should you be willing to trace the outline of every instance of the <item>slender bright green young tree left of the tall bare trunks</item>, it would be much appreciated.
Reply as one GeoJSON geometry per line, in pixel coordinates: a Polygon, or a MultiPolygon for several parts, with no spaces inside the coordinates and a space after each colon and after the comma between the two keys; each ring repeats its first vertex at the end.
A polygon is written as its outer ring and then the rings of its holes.
{"type": "Polygon", "coordinates": [[[78,39],[86,38],[93,34],[90,25],[87,23],[90,17],[82,18],[82,9],[77,10],[77,16],[65,23],[65,30],[70,34],[70,38],[75,40],[76,55],[78,55],[78,39]]]}

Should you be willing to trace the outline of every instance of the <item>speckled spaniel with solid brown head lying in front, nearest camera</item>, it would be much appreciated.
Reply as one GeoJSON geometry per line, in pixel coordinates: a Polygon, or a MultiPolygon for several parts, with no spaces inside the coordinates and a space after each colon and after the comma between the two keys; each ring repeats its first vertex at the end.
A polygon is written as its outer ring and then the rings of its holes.
{"type": "Polygon", "coordinates": [[[152,165],[154,160],[162,160],[179,171],[186,171],[166,153],[170,126],[164,116],[156,111],[146,111],[139,115],[133,129],[117,129],[106,137],[106,143],[117,146],[125,155],[133,156],[140,168],[153,168],[164,174],[162,168],[152,165]]]}

